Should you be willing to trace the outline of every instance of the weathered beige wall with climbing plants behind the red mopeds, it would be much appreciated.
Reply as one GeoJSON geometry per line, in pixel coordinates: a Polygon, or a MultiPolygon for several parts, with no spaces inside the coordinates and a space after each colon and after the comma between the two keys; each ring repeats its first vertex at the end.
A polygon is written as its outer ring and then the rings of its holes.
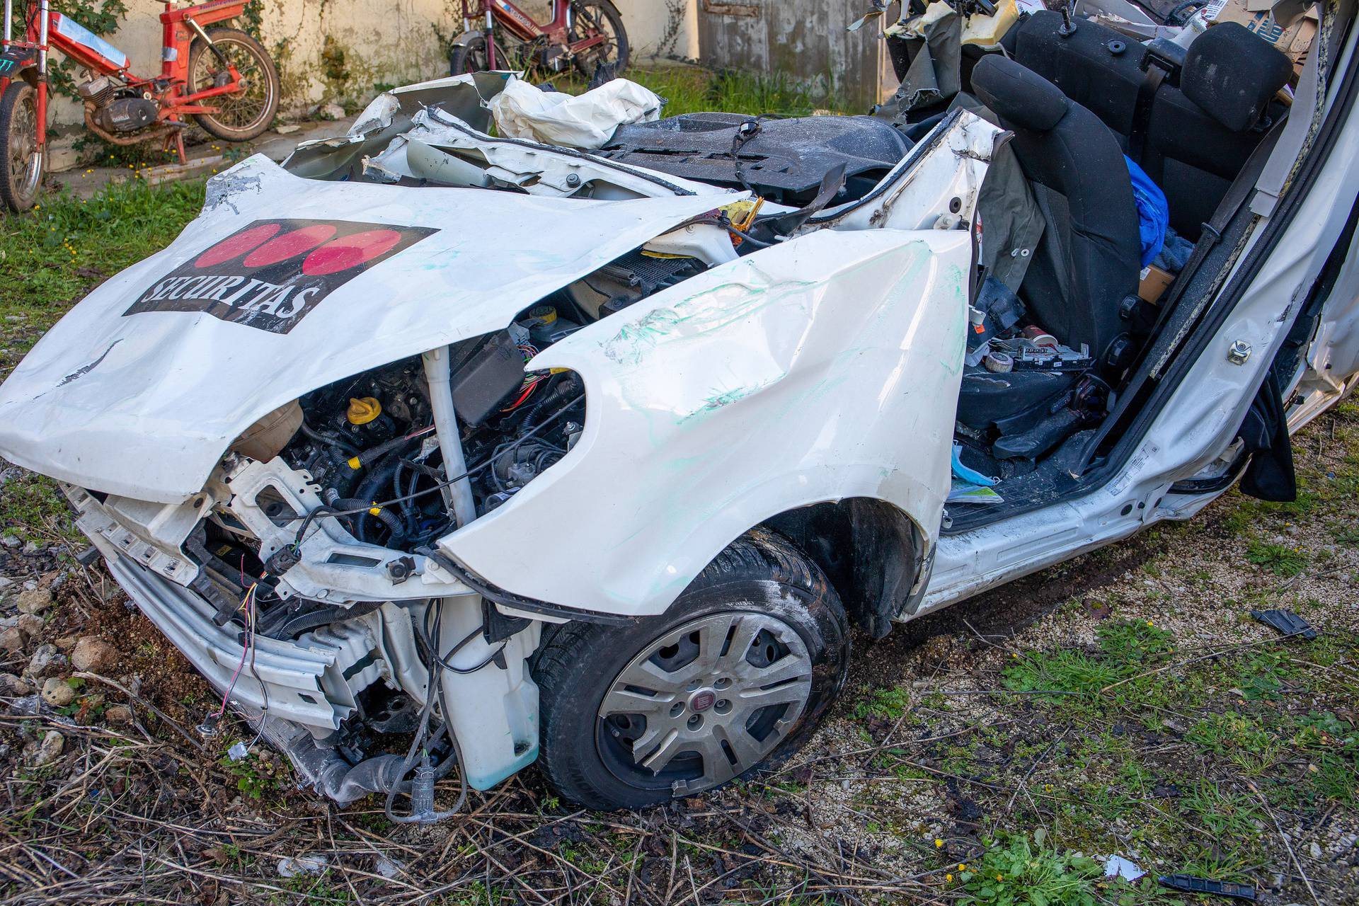
{"type": "MultiPolygon", "coordinates": [[[[322,101],[363,103],[378,84],[406,84],[448,73],[436,37],[462,31],[461,5],[450,0],[255,0],[264,43],[279,65],[284,109],[299,111],[322,101]],[[455,18],[455,14],[457,18],[455,18]]],[[[616,0],[635,58],[697,57],[694,0],[616,0]]],[[[118,31],[106,35],[132,58],[137,73],[160,69],[160,5],[129,3],[118,31]]],[[[520,0],[546,19],[548,0],[520,0]]],[[[54,105],[56,124],[82,121],[80,107],[54,105]]]]}

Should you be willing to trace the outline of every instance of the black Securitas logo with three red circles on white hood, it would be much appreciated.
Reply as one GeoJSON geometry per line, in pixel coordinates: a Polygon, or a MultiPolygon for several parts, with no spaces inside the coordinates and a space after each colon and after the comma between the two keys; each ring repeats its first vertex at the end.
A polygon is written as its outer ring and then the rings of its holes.
{"type": "Polygon", "coordinates": [[[158,280],[122,314],[205,311],[285,334],[332,292],[432,232],[352,220],[255,220],[158,280]]]}

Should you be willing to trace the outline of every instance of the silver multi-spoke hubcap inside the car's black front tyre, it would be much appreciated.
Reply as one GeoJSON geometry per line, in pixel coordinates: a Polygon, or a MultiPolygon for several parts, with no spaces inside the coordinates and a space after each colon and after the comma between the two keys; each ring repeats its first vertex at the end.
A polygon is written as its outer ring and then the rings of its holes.
{"type": "Polygon", "coordinates": [[[709,789],[764,761],[810,694],[811,656],[792,626],[749,611],[700,617],[652,641],[609,685],[601,757],[635,786],[709,789]]]}

